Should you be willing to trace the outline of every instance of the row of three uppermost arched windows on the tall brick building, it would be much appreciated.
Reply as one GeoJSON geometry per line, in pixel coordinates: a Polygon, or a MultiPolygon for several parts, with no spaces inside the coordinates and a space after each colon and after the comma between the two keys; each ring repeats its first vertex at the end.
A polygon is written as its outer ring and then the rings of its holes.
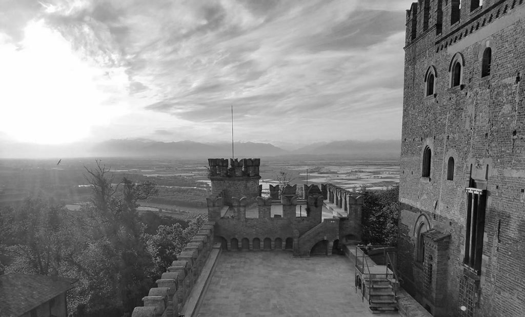
{"type": "MultiPolygon", "coordinates": [[[[481,58],[481,77],[490,75],[492,64],[492,49],[485,48],[481,58]]],[[[463,68],[465,67],[465,58],[461,53],[456,53],[450,61],[448,72],[450,74],[450,88],[455,88],[463,84],[463,68]]],[[[437,71],[434,66],[430,66],[425,73],[425,96],[436,93],[437,71]]]]}

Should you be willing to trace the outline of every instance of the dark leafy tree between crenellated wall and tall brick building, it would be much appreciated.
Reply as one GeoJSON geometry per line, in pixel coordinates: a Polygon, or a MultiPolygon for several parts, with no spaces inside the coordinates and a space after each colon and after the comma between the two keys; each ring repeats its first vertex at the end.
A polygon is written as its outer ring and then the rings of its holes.
{"type": "Polygon", "coordinates": [[[397,221],[400,215],[399,185],[386,190],[371,191],[361,188],[364,196],[362,213],[362,241],[365,244],[397,244],[397,221]]]}

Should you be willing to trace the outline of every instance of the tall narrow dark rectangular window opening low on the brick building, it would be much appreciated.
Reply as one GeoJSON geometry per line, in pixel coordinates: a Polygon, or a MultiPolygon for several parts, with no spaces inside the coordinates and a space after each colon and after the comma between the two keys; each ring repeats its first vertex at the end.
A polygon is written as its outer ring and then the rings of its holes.
{"type": "Polygon", "coordinates": [[[463,263],[481,273],[481,254],[483,252],[483,235],[485,231],[484,190],[467,188],[467,232],[465,235],[465,258],[463,263]]]}

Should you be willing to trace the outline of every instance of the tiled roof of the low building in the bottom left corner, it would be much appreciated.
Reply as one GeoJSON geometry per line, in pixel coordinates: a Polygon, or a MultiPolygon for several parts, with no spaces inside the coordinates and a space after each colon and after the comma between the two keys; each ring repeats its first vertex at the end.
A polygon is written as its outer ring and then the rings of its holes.
{"type": "Polygon", "coordinates": [[[27,274],[0,276],[0,317],[14,317],[73,288],[77,279],[27,274]]]}

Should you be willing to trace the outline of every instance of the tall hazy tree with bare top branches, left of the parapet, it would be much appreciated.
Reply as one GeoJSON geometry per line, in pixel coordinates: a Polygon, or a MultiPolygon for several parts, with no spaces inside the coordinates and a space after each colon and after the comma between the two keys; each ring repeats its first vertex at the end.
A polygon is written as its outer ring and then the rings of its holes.
{"type": "Polygon", "coordinates": [[[86,168],[93,196],[77,217],[82,247],[71,258],[86,279],[86,287],[77,290],[86,315],[114,308],[131,311],[149,288],[153,269],[137,207],[156,193],[154,184],[124,178],[114,187],[107,177],[110,169],[96,163],[95,169],[86,168]]]}

